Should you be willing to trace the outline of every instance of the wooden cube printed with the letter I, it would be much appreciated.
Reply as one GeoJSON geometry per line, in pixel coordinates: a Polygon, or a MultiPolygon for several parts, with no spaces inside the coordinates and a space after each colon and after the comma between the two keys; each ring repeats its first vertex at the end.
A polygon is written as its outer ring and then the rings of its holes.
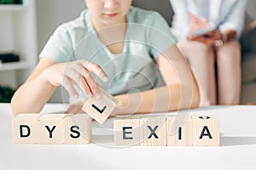
{"type": "Polygon", "coordinates": [[[166,135],[168,146],[192,146],[192,118],[189,116],[183,120],[183,117],[166,117],[166,135]]]}

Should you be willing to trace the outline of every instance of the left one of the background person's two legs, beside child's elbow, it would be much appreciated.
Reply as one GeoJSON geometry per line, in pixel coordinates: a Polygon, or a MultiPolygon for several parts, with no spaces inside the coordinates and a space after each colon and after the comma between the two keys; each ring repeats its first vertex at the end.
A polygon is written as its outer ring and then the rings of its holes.
{"type": "Polygon", "coordinates": [[[200,105],[216,104],[214,53],[211,47],[202,42],[177,42],[177,47],[189,60],[191,70],[198,83],[201,102],[200,105]]]}

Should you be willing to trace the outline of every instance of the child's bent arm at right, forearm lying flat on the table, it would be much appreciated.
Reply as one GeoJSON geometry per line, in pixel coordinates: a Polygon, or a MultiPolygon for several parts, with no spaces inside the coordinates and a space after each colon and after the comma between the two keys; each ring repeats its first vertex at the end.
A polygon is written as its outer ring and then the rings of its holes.
{"type": "Polygon", "coordinates": [[[198,107],[199,88],[188,63],[176,45],[168,48],[157,58],[157,65],[166,86],[140,94],[115,96],[119,105],[113,115],[177,111],[198,107]]]}

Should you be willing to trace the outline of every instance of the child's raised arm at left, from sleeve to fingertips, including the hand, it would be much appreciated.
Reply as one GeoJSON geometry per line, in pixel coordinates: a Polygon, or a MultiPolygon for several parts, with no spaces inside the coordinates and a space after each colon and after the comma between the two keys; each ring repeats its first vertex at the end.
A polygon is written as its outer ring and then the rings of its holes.
{"type": "Polygon", "coordinates": [[[79,98],[79,93],[73,88],[74,84],[88,96],[100,95],[89,71],[94,72],[103,82],[108,81],[108,76],[99,65],[84,59],[55,64],[53,60],[42,57],[32,75],[15,92],[11,101],[14,114],[41,111],[55,87],[61,85],[75,98],[79,98]]]}

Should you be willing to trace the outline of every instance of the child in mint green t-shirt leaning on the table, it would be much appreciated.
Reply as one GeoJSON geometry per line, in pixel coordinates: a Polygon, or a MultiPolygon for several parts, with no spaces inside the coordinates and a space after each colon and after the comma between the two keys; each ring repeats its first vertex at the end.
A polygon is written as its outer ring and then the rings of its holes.
{"type": "Polygon", "coordinates": [[[199,105],[195,79],[160,14],[131,7],[131,0],[85,3],[77,20],[49,38],[11,101],[15,115],[41,111],[57,86],[70,94],[67,113],[81,112],[88,97],[101,98],[100,86],[119,100],[113,116],[199,105]],[[132,89],[137,93],[128,99],[132,89]]]}

